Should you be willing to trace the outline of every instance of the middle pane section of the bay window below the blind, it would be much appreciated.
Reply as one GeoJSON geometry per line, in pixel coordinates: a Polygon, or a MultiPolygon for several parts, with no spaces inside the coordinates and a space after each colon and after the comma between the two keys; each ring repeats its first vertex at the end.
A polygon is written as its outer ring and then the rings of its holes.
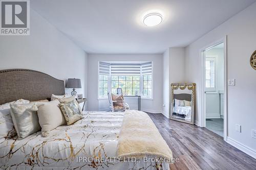
{"type": "Polygon", "coordinates": [[[112,93],[117,93],[116,88],[122,88],[124,95],[139,94],[140,76],[112,76],[112,93]]]}

